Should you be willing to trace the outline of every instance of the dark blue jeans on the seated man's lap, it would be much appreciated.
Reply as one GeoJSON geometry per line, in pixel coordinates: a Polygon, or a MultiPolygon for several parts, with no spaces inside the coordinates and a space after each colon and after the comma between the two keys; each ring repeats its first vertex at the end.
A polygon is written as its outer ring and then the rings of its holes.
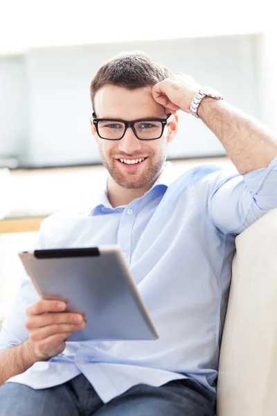
{"type": "Polygon", "coordinates": [[[135,385],[107,404],[82,374],[43,390],[19,383],[0,388],[0,416],[214,416],[214,410],[215,394],[187,379],[135,385]]]}

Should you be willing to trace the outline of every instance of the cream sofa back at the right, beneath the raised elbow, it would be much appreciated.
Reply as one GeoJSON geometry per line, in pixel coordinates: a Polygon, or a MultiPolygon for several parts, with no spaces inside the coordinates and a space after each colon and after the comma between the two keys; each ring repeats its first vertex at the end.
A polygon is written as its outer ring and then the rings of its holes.
{"type": "Polygon", "coordinates": [[[217,416],[277,413],[277,209],[236,238],[217,416]]]}

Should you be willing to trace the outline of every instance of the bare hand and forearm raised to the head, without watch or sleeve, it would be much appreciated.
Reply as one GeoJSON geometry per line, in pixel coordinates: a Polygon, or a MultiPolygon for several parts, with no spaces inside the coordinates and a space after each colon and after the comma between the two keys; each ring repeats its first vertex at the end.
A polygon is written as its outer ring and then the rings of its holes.
{"type": "MultiPolygon", "coordinates": [[[[172,114],[179,109],[189,113],[190,104],[198,91],[199,84],[184,73],[173,74],[152,87],[154,100],[172,114]]],[[[277,156],[274,133],[224,100],[203,98],[198,115],[220,139],[241,175],[267,167],[277,156]]]]}

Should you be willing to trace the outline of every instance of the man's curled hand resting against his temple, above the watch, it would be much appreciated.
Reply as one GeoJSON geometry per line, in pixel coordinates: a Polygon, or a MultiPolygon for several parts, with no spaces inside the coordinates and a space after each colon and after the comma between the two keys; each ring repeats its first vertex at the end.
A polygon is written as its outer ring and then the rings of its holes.
{"type": "Polygon", "coordinates": [[[189,113],[190,104],[199,88],[200,85],[191,76],[178,72],[154,85],[152,96],[165,107],[167,113],[175,114],[179,109],[189,113]]]}

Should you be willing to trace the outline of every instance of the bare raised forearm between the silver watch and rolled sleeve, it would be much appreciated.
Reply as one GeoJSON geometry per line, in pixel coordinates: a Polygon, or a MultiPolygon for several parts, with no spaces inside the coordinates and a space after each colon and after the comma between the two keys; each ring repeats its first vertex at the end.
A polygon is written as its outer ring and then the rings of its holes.
{"type": "Polygon", "coordinates": [[[274,132],[226,101],[204,98],[198,114],[220,139],[240,174],[265,168],[277,156],[274,132]]]}

